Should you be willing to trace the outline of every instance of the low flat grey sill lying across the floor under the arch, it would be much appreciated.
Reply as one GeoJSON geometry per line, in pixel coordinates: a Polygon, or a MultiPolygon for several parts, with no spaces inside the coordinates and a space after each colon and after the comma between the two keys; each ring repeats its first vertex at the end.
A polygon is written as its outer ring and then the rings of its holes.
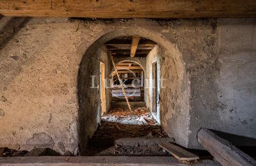
{"type": "Polygon", "coordinates": [[[119,146],[147,146],[150,144],[161,144],[161,143],[168,143],[174,142],[173,138],[122,138],[116,139],[115,145],[119,146]]]}

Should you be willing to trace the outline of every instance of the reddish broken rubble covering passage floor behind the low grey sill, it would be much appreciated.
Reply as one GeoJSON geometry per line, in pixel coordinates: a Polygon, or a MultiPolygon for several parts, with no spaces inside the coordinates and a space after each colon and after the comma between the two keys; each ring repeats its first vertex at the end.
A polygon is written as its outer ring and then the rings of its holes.
{"type": "Polygon", "coordinates": [[[102,116],[101,126],[93,138],[120,139],[125,137],[168,137],[146,107],[111,109],[102,116]]]}

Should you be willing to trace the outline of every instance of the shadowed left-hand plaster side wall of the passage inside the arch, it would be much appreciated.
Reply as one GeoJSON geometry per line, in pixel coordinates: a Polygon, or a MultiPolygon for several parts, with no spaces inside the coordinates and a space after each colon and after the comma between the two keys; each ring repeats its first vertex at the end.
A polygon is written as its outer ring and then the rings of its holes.
{"type": "MultiPolygon", "coordinates": [[[[86,52],[79,69],[79,128],[81,146],[86,147],[88,138],[93,136],[101,119],[100,105],[100,61],[105,63],[106,78],[110,71],[110,61],[106,48],[95,48],[86,52]],[[92,63],[93,62],[93,63],[92,63]],[[93,82],[92,82],[93,77],[93,82]],[[94,83],[94,84],[93,84],[94,83]]],[[[111,106],[111,93],[106,89],[106,109],[111,106]]],[[[81,147],[80,147],[81,148],[81,147]]],[[[84,148],[80,149],[84,153],[84,148]]]]}

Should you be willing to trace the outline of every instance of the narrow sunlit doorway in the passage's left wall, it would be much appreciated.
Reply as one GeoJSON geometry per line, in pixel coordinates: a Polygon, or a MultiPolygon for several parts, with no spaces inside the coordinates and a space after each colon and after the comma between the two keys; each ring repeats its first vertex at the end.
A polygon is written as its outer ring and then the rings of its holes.
{"type": "Polygon", "coordinates": [[[100,103],[101,116],[106,112],[105,64],[100,62],[100,103]]]}

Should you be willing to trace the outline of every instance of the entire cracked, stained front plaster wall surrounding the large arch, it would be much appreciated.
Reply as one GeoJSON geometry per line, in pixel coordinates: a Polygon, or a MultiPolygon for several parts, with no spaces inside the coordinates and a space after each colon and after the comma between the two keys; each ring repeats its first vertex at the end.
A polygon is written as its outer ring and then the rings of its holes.
{"type": "Polygon", "coordinates": [[[100,46],[133,34],[161,48],[161,77],[170,80],[161,90],[163,127],[177,143],[201,148],[201,127],[255,138],[255,19],[25,20],[1,27],[0,146],[32,149],[42,139],[61,154],[77,154],[86,140],[77,128],[92,125],[88,136],[97,126],[79,118],[97,112],[99,102],[77,96],[90,94],[77,91],[82,59],[86,75],[97,73],[100,46]]]}

